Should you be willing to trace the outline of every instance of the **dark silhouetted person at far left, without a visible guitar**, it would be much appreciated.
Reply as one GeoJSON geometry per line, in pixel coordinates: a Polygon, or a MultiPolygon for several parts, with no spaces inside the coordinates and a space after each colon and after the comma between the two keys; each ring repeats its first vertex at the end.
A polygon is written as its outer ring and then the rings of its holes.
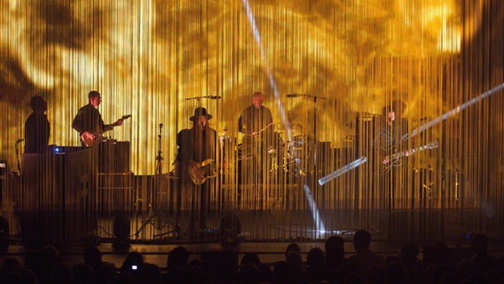
{"type": "Polygon", "coordinates": [[[49,144],[51,126],[45,111],[47,102],[41,96],[30,99],[33,112],[25,122],[25,153],[45,153],[49,144]]]}

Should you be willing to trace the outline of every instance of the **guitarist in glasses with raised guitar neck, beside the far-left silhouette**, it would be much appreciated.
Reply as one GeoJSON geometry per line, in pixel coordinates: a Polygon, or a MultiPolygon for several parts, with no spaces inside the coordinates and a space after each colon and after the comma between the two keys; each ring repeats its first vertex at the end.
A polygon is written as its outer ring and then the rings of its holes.
{"type": "Polygon", "coordinates": [[[118,119],[112,124],[105,124],[98,111],[98,106],[101,104],[101,94],[98,91],[90,91],[88,94],[89,103],[79,109],[72,121],[72,128],[79,132],[82,138],[83,147],[86,145],[85,140],[95,140],[101,138],[101,134],[105,131],[112,130],[115,126],[122,125],[122,119],[118,119]]]}

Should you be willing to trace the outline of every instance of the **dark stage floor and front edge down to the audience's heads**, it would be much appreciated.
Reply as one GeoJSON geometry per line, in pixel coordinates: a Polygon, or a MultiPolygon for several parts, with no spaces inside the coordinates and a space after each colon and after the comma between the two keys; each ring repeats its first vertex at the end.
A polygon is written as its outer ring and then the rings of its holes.
{"type": "MultiPolygon", "coordinates": [[[[307,206],[308,207],[308,206],[307,206]]],[[[372,234],[371,248],[383,256],[398,254],[399,248],[407,241],[414,241],[420,248],[446,241],[454,248],[456,236],[461,233],[478,233],[485,222],[495,217],[482,215],[476,210],[431,209],[431,210],[372,210],[372,209],[239,209],[234,211],[210,211],[207,216],[208,230],[191,232],[193,221],[191,212],[183,211],[177,218],[173,210],[156,212],[76,212],[68,211],[35,212],[28,215],[28,241],[23,239],[22,215],[27,212],[17,210],[9,199],[1,202],[1,214],[9,222],[9,247],[0,254],[0,262],[6,257],[18,258],[25,264],[27,256],[39,251],[45,243],[55,244],[60,251],[61,261],[68,264],[83,262],[83,248],[96,245],[107,262],[121,266],[126,255],[138,251],[145,261],[166,266],[168,253],[177,246],[184,246],[191,258],[215,257],[221,244],[221,221],[226,214],[233,214],[240,220],[238,245],[239,258],[248,252],[255,252],[264,263],[284,259],[284,251],[290,242],[298,243],[303,259],[311,248],[324,247],[330,235],[339,235],[345,241],[346,256],[354,253],[351,243],[358,229],[366,229],[372,234]],[[32,218],[33,219],[30,219],[32,218]],[[89,217],[86,220],[81,217],[89,217]],[[126,222],[117,222],[117,220],[126,222]],[[87,222],[87,223],[86,223],[87,222]],[[114,225],[119,224],[119,229],[114,225]],[[122,224],[122,225],[121,225],[122,224]],[[36,225],[39,229],[34,229],[36,225]],[[88,225],[84,228],[85,225],[88,225]],[[175,228],[179,230],[175,230],[175,228]],[[40,230],[44,228],[44,230],[40,230]],[[122,242],[127,246],[114,247],[117,231],[125,232],[122,242]]],[[[27,217],[27,216],[25,216],[27,217]]],[[[26,219],[26,218],[25,218],[26,219]]],[[[497,218],[499,219],[499,218],[497,218]]],[[[25,224],[25,228],[27,224],[25,224]]],[[[230,226],[231,228],[233,226],[230,226]]],[[[230,229],[229,227],[224,229],[230,229]]],[[[26,231],[26,230],[25,230],[26,231]]],[[[489,235],[492,255],[504,256],[504,240],[498,232],[489,235]]],[[[466,243],[466,246],[469,246],[466,243]]]]}

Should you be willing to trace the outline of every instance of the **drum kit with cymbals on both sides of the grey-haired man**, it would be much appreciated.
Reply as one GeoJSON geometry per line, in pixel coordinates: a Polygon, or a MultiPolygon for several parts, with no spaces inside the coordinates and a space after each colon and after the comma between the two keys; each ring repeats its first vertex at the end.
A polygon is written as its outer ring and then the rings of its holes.
{"type": "MultiPolygon", "coordinates": [[[[316,141],[299,122],[287,125],[275,123],[272,144],[265,149],[271,171],[284,171],[287,175],[304,176],[311,166],[316,141]],[[290,131],[290,139],[287,132],[290,131]],[[287,142],[285,142],[287,141],[287,142]]],[[[230,162],[247,161],[252,154],[243,148],[244,134],[224,128],[219,133],[221,153],[230,162]]]]}

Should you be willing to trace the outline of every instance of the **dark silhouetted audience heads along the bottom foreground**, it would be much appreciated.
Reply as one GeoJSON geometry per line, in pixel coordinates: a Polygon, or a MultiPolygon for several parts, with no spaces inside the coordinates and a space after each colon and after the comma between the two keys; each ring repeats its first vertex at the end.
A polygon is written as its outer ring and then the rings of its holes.
{"type": "Polygon", "coordinates": [[[504,283],[504,257],[488,253],[484,234],[472,236],[470,247],[448,248],[436,242],[421,251],[405,244],[397,256],[383,257],[369,249],[371,234],[355,233],[355,254],[345,254],[343,239],[327,239],[325,250],[311,248],[305,259],[296,243],[287,246],[285,260],[264,264],[254,253],[239,259],[233,248],[222,249],[211,261],[193,259],[184,247],[169,252],[166,267],[144,262],[131,252],[121,267],[102,261],[98,248],[86,248],[83,263],[59,261],[58,251],[43,248],[27,257],[4,260],[0,283],[504,283]],[[421,257],[420,257],[421,256],[421,257]]]}

